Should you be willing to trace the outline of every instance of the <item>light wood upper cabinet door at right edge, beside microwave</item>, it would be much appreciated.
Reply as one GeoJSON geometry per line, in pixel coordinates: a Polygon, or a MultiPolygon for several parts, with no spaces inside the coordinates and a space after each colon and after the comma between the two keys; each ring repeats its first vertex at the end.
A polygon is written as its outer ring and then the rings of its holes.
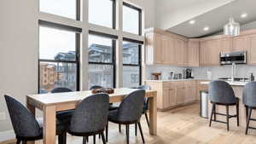
{"type": "Polygon", "coordinates": [[[248,37],[248,64],[256,65],[256,35],[248,37]]]}

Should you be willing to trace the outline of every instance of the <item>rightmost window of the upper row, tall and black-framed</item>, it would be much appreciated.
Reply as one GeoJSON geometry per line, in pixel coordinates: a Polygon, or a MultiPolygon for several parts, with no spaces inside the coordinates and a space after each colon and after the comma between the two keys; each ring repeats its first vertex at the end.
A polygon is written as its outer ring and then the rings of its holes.
{"type": "Polygon", "coordinates": [[[142,10],[128,3],[123,4],[123,31],[142,34],[142,10]]]}

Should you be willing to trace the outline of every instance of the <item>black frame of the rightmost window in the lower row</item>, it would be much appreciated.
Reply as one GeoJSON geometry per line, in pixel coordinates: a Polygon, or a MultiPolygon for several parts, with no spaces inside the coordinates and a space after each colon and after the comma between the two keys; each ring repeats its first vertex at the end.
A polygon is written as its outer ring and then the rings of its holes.
{"type": "MultiPolygon", "coordinates": [[[[138,66],[139,67],[139,85],[142,85],[143,81],[143,60],[142,60],[142,44],[143,41],[123,37],[123,42],[138,43],[138,64],[124,64],[123,66],[138,66]]],[[[124,69],[123,69],[124,73],[124,69]]]]}

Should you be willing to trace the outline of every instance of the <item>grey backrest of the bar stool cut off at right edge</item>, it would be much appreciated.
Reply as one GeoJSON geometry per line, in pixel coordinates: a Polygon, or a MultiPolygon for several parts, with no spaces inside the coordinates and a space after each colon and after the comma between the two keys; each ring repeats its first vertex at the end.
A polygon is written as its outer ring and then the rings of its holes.
{"type": "Polygon", "coordinates": [[[242,102],[247,107],[256,107],[256,82],[246,84],[242,90],[242,102]]]}

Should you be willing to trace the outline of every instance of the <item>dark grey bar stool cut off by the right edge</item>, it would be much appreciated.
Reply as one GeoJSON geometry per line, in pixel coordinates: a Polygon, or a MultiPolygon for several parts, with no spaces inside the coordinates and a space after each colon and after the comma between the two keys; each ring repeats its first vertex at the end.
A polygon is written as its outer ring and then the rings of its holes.
{"type": "Polygon", "coordinates": [[[246,127],[246,135],[248,133],[248,129],[256,130],[256,128],[250,127],[250,121],[256,121],[255,118],[251,118],[252,111],[256,109],[256,82],[250,82],[246,84],[244,89],[242,90],[242,102],[246,107],[246,118],[247,118],[247,127],[246,127]]]}

